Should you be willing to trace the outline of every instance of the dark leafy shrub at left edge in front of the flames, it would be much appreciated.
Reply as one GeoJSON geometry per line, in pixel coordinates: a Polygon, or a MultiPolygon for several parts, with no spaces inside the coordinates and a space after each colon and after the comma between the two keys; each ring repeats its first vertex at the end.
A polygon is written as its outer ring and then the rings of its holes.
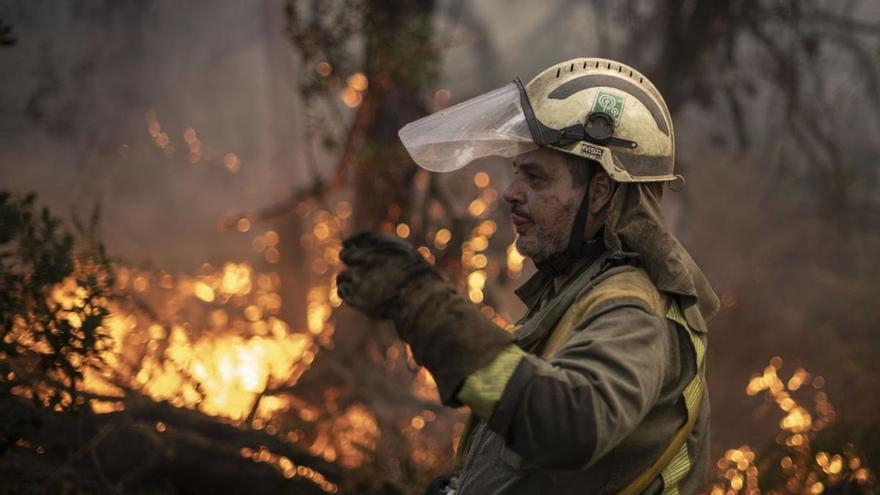
{"type": "MultiPolygon", "coordinates": [[[[74,410],[86,403],[78,384],[106,338],[112,273],[100,244],[77,250],[61,221],[34,203],[33,194],[0,192],[0,398],[74,410]]],[[[2,419],[0,449],[25,421],[2,419]]]]}

